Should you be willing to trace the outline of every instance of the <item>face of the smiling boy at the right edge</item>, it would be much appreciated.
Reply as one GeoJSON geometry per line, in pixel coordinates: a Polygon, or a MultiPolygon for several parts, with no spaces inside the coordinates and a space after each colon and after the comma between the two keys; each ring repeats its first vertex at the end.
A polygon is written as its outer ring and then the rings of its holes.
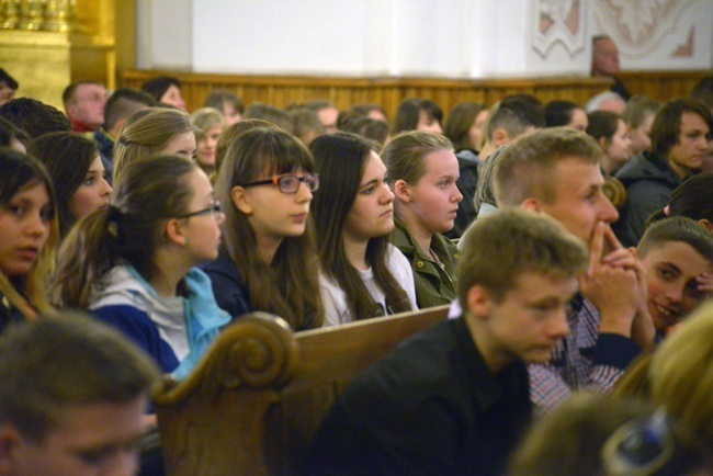
{"type": "Polygon", "coordinates": [[[683,241],[649,249],[642,258],[648,287],[648,313],[659,331],[679,322],[705,299],[697,276],[713,272],[711,263],[683,241]]]}

